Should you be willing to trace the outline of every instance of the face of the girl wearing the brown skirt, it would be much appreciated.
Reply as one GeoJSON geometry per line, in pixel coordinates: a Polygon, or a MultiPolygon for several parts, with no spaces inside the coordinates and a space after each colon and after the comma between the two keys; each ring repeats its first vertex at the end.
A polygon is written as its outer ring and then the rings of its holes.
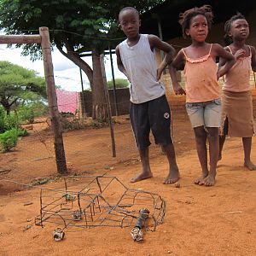
{"type": "Polygon", "coordinates": [[[234,20],[230,26],[230,37],[237,40],[246,39],[249,35],[247,20],[234,20]]]}

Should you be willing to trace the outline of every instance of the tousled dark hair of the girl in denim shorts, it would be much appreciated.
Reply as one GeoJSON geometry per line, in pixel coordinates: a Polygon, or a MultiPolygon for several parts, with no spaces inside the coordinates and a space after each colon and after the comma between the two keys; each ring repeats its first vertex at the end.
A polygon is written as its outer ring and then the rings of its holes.
{"type": "Polygon", "coordinates": [[[213,20],[213,13],[212,13],[212,6],[210,5],[203,5],[201,7],[195,7],[192,9],[186,10],[183,14],[179,15],[178,23],[182,26],[183,29],[183,38],[188,38],[186,35],[186,30],[189,29],[190,20],[195,17],[196,15],[203,15],[207,19],[207,25],[209,29],[212,26],[213,20]]]}

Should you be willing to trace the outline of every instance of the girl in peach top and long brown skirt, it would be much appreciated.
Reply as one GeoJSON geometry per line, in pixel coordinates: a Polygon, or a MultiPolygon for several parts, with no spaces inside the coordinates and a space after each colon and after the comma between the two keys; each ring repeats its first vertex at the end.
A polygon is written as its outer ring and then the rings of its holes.
{"type": "MultiPolygon", "coordinates": [[[[250,71],[256,71],[255,48],[245,44],[249,26],[241,14],[234,15],[225,23],[225,39],[229,46],[225,49],[236,57],[236,64],[224,76],[223,86],[223,125],[219,138],[219,160],[225,137],[241,137],[244,149],[244,166],[256,170],[251,161],[253,136],[253,100],[250,88],[250,71]]],[[[222,58],[219,67],[225,64],[222,58]]]]}

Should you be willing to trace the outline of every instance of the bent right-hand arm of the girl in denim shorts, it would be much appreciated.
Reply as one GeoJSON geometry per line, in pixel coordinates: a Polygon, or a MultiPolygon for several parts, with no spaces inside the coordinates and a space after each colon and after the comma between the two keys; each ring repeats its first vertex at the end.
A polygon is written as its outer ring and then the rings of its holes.
{"type": "Polygon", "coordinates": [[[224,76],[230,68],[236,63],[234,55],[225,50],[220,44],[214,44],[215,53],[220,57],[220,63],[218,64],[217,79],[224,76]],[[224,60],[223,60],[224,59],[224,60]]]}

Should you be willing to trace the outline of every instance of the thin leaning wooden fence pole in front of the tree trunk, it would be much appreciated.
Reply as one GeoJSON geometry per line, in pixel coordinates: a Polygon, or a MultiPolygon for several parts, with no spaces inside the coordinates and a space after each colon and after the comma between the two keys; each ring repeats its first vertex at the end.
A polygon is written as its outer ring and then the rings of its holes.
{"type": "Polygon", "coordinates": [[[116,157],[113,124],[112,124],[112,113],[111,113],[111,105],[110,105],[109,94],[108,94],[107,77],[106,77],[105,65],[104,65],[104,55],[100,55],[100,61],[101,61],[101,67],[102,67],[102,78],[103,78],[104,92],[105,92],[105,97],[106,97],[106,102],[107,102],[107,111],[108,111],[109,128],[110,128],[111,145],[112,145],[112,155],[113,155],[113,157],[116,157]]]}

